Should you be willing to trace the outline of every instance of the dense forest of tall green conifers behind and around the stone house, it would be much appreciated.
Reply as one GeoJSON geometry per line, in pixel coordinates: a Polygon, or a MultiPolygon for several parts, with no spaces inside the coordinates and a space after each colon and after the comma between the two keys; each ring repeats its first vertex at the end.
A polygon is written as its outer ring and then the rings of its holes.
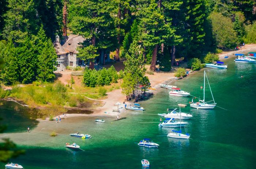
{"type": "Polygon", "coordinates": [[[0,78],[52,81],[52,42],[66,28],[86,38],[79,57],[91,69],[103,49],[127,60],[126,74],[143,77],[143,64],[169,71],[175,58],[204,62],[207,54],[256,43],[255,19],[253,0],[0,0],[0,78]],[[130,72],[137,62],[143,72],[130,72]]]}

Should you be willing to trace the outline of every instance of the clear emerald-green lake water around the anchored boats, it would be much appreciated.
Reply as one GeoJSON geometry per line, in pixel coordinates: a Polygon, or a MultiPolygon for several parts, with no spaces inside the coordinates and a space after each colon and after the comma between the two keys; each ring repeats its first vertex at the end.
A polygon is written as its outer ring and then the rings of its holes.
{"type": "MultiPolygon", "coordinates": [[[[177,107],[178,103],[188,103],[192,99],[169,96],[168,90],[159,89],[161,91],[153,98],[140,103],[146,109],[143,114],[127,111],[127,119],[111,122],[113,118],[104,118],[105,123],[94,122],[95,117],[64,119],[61,124],[51,123],[56,129],[64,127],[64,130],[59,129],[61,134],[54,138],[49,137],[49,132],[44,133],[44,130],[38,133],[38,139],[33,137],[33,132],[27,133],[22,141],[17,139],[21,148],[26,149],[26,154],[12,162],[18,162],[26,169],[134,169],[142,168],[140,160],[146,158],[152,169],[256,168],[256,64],[234,63],[233,59],[226,60],[226,63],[229,67],[227,70],[206,69],[206,72],[215,102],[227,111],[219,107],[214,110],[182,108],[182,111],[193,114],[186,126],[192,139],[167,138],[170,129],[158,127],[159,116],[146,115],[165,113],[167,108],[177,107]],[[244,78],[239,78],[241,75],[244,78]],[[74,130],[89,133],[93,138],[82,140],[69,137],[68,134],[74,130]],[[152,138],[160,145],[159,148],[139,147],[137,143],[145,137],[152,138]],[[85,151],[66,149],[66,142],[76,142],[85,151]]],[[[203,86],[203,71],[174,82],[173,85],[202,98],[200,86],[203,86]]],[[[211,100],[208,87],[206,100],[211,100]]],[[[25,123],[23,118],[27,117],[6,107],[0,107],[0,115],[7,118],[5,121],[10,121],[10,132],[17,132],[15,127],[33,122],[28,120],[25,123]],[[14,113],[3,116],[3,112],[14,113]],[[17,121],[23,123],[15,125],[17,121]]]]}

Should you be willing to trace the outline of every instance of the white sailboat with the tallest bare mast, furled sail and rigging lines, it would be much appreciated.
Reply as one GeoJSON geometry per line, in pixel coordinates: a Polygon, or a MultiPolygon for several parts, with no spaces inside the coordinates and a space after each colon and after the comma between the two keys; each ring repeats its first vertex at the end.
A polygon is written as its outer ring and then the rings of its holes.
{"type": "MultiPolygon", "coordinates": [[[[210,86],[210,83],[208,81],[205,69],[204,69],[204,96],[205,96],[205,78],[207,79],[207,82],[208,82],[208,85],[209,85],[209,88],[210,88],[210,91],[211,91],[211,86],[210,86]]],[[[192,99],[192,102],[190,102],[190,107],[193,107],[193,108],[196,108],[196,109],[213,109],[216,106],[217,103],[215,103],[215,101],[214,101],[212,91],[211,91],[211,96],[212,96],[212,99],[213,99],[212,101],[214,103],[208,103],[208,102],[211,102],[211,101],[205,102],[204,101],[205,98],[203,98],[203,100],[199,99],[199,102],[194,103],[193,99],[192,99]]]]}

